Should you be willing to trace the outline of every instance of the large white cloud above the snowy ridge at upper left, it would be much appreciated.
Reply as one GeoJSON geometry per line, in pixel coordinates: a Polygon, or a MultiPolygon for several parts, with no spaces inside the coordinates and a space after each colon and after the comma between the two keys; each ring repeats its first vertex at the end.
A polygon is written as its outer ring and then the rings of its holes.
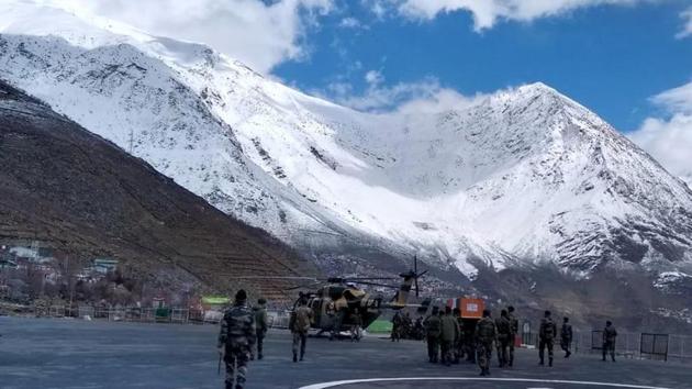
{"type": "Polygon", "coordinates": [[[332,0],[55,0],[154,35],[200,42],[268,73],[305,55],[303,42],[332,0]]]}

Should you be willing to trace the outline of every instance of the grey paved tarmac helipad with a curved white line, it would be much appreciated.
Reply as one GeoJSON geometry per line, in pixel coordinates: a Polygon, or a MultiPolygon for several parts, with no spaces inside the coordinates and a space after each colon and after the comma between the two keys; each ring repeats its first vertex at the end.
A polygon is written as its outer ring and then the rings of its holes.
{"type": "MultiPolygon", "coordinates": [[[[0,334],[2,389],[223,387],[215,325],[0,318],[0,334]]],[[[270,332],[265,347],[266,358],[249,366],[247,388],[692,388],[692,365],[603,363],[595,354],[563,359],[558,353],[548,368],[537,366],[536,351],[521,349],[515,368],[495,367],[490,380],[482,380],[475,365],[428,364],[422,342],[309,338],[306,358],[298,364],[291,362],[287,332],[270,332]],[[404,379],[320,385],[373,378],[404,379]]]]}

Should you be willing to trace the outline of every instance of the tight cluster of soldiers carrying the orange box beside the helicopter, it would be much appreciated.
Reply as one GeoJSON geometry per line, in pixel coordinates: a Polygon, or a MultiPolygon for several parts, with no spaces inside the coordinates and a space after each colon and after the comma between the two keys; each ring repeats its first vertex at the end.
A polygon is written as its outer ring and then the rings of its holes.
{"type": "Polygon", "coordinates": [[[469,362],[478,360],[481,376],[487,376],[494,344],[500,367],[513,366],[514,338],[518,331],[513,307],[502,310],[496,320],[491,318],[490,310],[484,310],[475,326],[469,324],[461,319],[459,309],[445,307],[443,311],[433,307],[432,314],[424,321],[428,362],[450,366],[466,357],[469,362]]]}

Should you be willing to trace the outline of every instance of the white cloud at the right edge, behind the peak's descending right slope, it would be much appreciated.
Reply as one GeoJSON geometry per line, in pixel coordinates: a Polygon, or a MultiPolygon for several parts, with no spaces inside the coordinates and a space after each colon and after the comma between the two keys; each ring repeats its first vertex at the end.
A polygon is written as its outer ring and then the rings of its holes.
{"type": "Polygon", "coordinates": [[[692,187],[692,82],[657,95],[651,101],[663,107],[670,118],[648,118],[628,136],[692,187]]]}

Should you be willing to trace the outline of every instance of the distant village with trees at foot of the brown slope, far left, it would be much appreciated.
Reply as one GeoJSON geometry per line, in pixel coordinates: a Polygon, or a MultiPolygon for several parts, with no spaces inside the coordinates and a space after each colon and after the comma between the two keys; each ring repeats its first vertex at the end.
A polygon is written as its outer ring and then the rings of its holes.
{"type": "Polygon", "coordinates": [[[0,241],[0,314],[217,322],[227,296],[146,284],[115,258],[0,241]]]}

